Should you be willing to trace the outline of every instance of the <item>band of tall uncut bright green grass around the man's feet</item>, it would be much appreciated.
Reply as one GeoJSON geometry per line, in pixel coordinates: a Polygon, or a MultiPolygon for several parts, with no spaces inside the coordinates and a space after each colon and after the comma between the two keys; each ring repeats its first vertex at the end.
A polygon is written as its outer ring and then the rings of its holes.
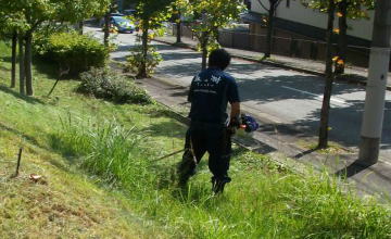
{"type": "Polygon", "coordinates": [[[189,187],[171,180],[174,164],[156,165],[152,138],[115,121],[63,121],[53,146],[89,173],[116,185],[135,210],[177,238],[390,238],[390,210],[342,191],[326,173],[298,175],[264,155],[237,149],[234,181],[212,196],[205,165],[189,187]],[[163,184],[164,183],[164,184],[163,184]]]}

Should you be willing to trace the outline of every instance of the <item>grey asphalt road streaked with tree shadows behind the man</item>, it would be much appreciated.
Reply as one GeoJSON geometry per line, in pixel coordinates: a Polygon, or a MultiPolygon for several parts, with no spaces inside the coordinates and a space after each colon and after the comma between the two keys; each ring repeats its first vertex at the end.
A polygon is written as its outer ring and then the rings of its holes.
{"type": "MultiPolygon", "coordinates": [[[[100,30],[87,28],[96,36],[100,30]]],[[[135,34],[121,34],[118,50],[112,59],[124,61],[135,46],[135,34]]],[[[190,49],[153,42],[164,61],[155,72],[175,85],[188,87],[201,67],[201,55],[190,49]]],[[[236,77],[243,109],[264,124],[279,126],[290,141],[316,138],[323,100],[324,79],[318,76],[287,71],[258,63],[234,59],[228,73],[236,77]]],[[[333,85],[329,139],[353,152],[357,151],[363,117],[365,88],[344,83],[333,85]]],[[[391,165],[391,93],[387,92],[381,140],[381,161],[391,165]]]]}

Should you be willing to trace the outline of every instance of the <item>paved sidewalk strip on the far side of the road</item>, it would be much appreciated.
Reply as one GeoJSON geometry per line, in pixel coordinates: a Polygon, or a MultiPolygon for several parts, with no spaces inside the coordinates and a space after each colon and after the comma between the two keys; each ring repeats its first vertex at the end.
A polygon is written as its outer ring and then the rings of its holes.
{"type": "MultiPolygon", "coordinates": [[[[166,42],[169,45],[175,45],[176,37],[172,35],[165,35],[163,37],[155,38],[155,40],[166,42]]],[[[182,43],[177,46],[192,48],[192,49],[194,49],[197,46],[197,41],[192,40],[191,38],[182,37],[181,40],[182,43]]],[[[300,59],[300,58],[289,58],[289,56],[276,55],[276,54],[272,54],[272,58],[269,60],[261,61],[261,58],[263,55],[263,53],[261,52],[239,50],[234,48],[225,48],[225,49],[236,58],[241,58],[249,61],[262,62],[263,64],[274,65],[277,67],[289,68],[289,70],[304,72],[314,75],[320,75],[320,76],[325,75],[324,74],[325,63],[321,61],[313,61],[313,60],[300,59]]],[[[346,66],[345,76],[339,79],[346,80],[350,83],[366,85],[367,76],[368,76],[367,68],[358,67],[358,66],[346,66]]],[[[391,90],[391,73],[389,73],[387,89],[391,90]]]]}

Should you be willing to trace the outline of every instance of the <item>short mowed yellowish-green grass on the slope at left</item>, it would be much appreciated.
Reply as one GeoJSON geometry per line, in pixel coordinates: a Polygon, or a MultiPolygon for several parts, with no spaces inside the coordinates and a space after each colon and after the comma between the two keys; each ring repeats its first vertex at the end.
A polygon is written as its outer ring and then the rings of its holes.
{"type": "MultiPolygon", "coordinates": [[[[3,45],[0,49],[7,52],[3,45]]],[[[121,193],[98,187],[97,179],[78,172],[49,146],[48,136],[68,112],[98,118],[115,114],[126,121],[134,109],[77,96],[76,81],[61,81],[52,98],[41,97],[53,84],[46,74],[35,75],[36,98],[21,98],[7,87],[10,64],[0,65],[0,238],[163,237],[162,229],[133,213],[121,193]],[[20,147],[20,176],[10,178],[20,147]],[[33,173],[45,177],[41,184],[28,179],[33,173]]]]}

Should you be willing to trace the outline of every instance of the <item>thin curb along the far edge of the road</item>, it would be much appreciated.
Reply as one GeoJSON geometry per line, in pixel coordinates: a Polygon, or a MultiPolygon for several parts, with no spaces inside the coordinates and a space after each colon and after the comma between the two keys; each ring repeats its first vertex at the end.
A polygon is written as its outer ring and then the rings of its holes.
{"type": "MultiPolygon", "coordinates": [[[[162,40],[162,39],[153,39],[153,40],[157,41],[157,42],[171,45],[171,46],[177,47],[177,48],[187,48],[187,49],[191,49],[191,50],[197,50],[194,47],[192,47],[192,46],[190,46],[188,43],[173,43],[173,42],[162,40]]],[[[262,60],[256,60],[256,59],[251,58],[251,56],[245,56],[245,55],[240,55],[240,54],[235,54],[235,53],[231,54],[231,55],[234,58],[237,58],[237,59],[242,59],[242,60],[250,61],[250,62],[256,62],[256,63],[261,63],[261,64],[264,64],[264,65],[272,65],[272,66],[275,66],[275,67],[279,67],[279,68],[291,70],[291,71],[301,72],[301,73],[311,74],[311,75],[316,75],[316,76],[321,76],[321,77],[326,76],[325,73],[314,71],[314,70],[300,68],[300,67],[297,67],[297,66],[293,66],[293,65],[288,65],[288,64],[278,63],[278,62],[274,62],[274,61],[268,61],[268,60],[263,60],[263,61],[262,60]]],[[[344,83],[348,83],[348,84],[357,84],[357,85],[361,85],[361,86],[366,86],[367,85],[366,77],[365,77],[365,80],[363,80],[363,79],[357,79],[354,76],[343,76],[342,75],[342,76],[337,76],[336,80],[344,81],[344,83]]],[[[391,86],[386,86],[386,89],[391,91],[391,86]]]]}

